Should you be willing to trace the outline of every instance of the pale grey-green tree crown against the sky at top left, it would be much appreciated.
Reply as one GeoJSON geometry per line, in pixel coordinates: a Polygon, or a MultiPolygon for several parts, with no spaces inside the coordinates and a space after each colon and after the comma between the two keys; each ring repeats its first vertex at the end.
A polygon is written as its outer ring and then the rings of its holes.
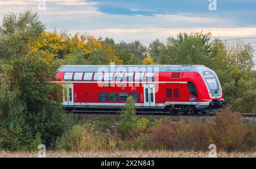
{"type": "Polygon", "coordinates": [[[34,41],[44,29],[38,14],[31,10],[19,15],[14,13],[4,15],[0,27],[0,58],[10,59],[26,54],[31,49],[28,44],[34,41]]]}

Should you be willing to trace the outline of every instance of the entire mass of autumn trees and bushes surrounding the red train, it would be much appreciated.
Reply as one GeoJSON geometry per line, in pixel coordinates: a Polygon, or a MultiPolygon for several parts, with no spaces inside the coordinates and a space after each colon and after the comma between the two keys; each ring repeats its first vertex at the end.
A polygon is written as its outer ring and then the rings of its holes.
{"type": "Polygon", "coordinates": [[[255,113],[251,45],[236,42],[228,48],[211,36],[179,33],[166,44],[155,40],[145,47],[139,41],[117,44],[108,37],[47,32],[29,10],[5,15],[0,26],[0,149],[32,151],[43,143],[51,150],[204,150],[209,142],[226,151],[253,149],[255,127],[247,128],[225,111],[227,117],[220,115],[214,123],[195,124],[137,121],[128,108],[129,115],[116,125],[97,119],[77,124],[63,113],[61,86],[47,82],[62,64],[203,64],[216,71],[232,111],[255,113]]]}

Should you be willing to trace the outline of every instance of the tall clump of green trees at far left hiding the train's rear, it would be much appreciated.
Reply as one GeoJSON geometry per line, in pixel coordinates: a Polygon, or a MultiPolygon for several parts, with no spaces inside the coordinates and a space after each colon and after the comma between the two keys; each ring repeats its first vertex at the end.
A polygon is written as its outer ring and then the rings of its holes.
{"type": "Polygon", "coordinates": [[[0,148],[12,150],[13,145],[15,149],[32,150],[41,141],[54,147],[57,137],[69,125],[60,104],[61,86],[47,81],[55,79],[60,66],[55,50],[49,50],[49,44],[47,48],[30,50],[44,30],[37,14],[10,14],[2,23],[0,44],[11,39],[17,46],[11,43],[6,44],[9,48],[0,47],[6,53],[0,59],[0,90],[6,90],[0,98],[0,140],[8,141],[0,143],[0,148]]]}

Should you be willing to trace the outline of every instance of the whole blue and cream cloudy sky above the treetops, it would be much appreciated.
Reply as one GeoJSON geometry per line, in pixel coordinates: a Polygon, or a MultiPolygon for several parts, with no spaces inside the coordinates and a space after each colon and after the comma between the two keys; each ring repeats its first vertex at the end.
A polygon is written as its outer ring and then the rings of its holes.
{"type": "Polygon", "coordinates": [[[0,0],[0,20],[27,9],[38,12],[47,31],[65,29],[145,45],[179,32],[203,31],[222,40],[239,38],[256,49],[256,38],[243,39],[256,37],[255,0],[0,0]]]}

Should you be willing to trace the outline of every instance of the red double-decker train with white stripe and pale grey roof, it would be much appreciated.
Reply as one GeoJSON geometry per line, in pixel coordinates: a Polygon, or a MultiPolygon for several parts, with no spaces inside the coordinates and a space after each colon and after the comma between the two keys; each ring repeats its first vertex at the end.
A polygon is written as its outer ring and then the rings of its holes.
{"type": "Polygon", "coordinates": [[[127,96],[143,110],[196,113],[224,105],[216,73],[203,65],[64,65],[56,76],[65,108],[119,109],[127,96]]]}

